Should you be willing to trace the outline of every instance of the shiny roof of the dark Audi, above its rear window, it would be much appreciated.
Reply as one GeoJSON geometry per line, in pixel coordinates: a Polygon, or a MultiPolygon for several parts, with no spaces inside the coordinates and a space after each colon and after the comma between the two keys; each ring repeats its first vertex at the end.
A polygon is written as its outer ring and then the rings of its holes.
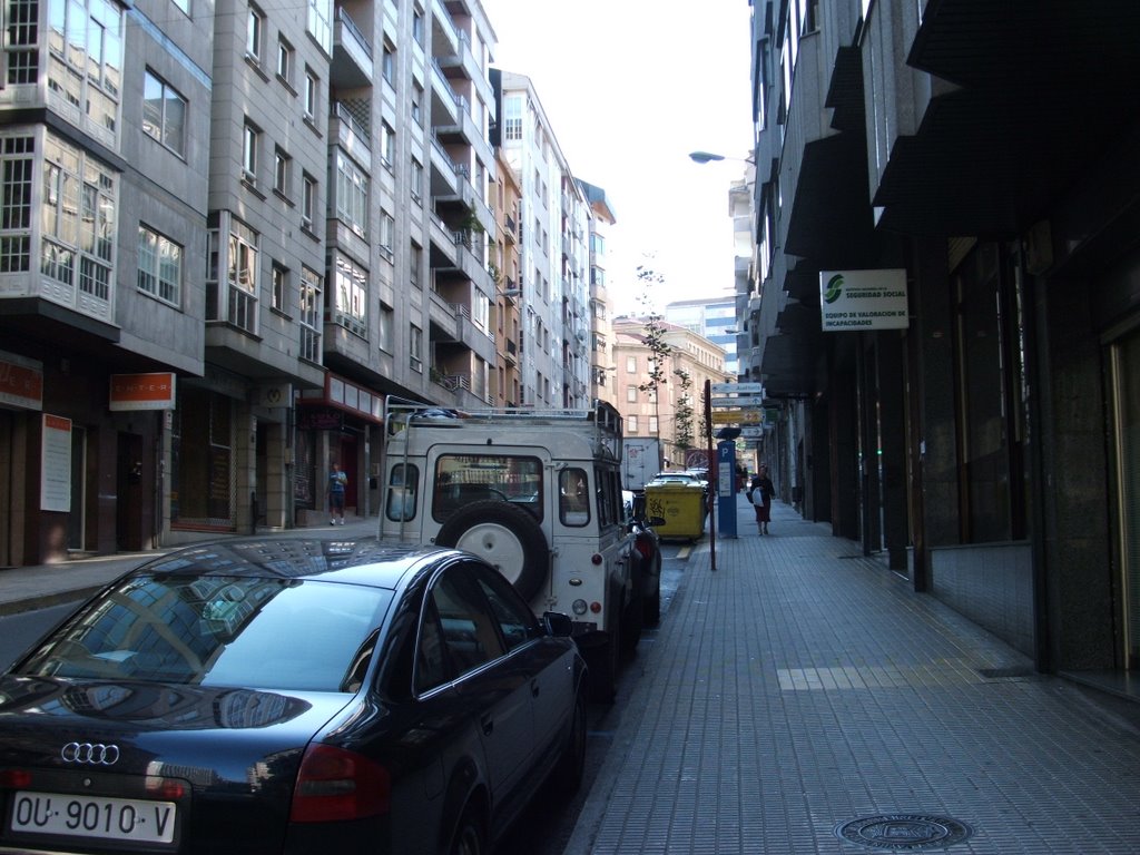
{"type": "Polygon", "coordinates": [[[148,561],[132,575],[320,578],[396,589],[421,570],[461,557],[472,559],[457,549],[384,544],[376,538],[251,538],[187,546],[148,561]]]}

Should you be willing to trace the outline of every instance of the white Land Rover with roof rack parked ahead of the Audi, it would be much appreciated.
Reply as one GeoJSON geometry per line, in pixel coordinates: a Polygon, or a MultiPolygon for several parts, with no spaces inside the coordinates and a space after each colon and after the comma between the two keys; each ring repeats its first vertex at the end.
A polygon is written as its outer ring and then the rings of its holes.
{"type": "Polygon", "coordinates": [[[380,536],[490,561],[536,613],[561,611],[613,695],[622,650],[660,597],[660,562],[635,547],[621,496],[621,414],[450,410],[388,398],[380,536]]]}

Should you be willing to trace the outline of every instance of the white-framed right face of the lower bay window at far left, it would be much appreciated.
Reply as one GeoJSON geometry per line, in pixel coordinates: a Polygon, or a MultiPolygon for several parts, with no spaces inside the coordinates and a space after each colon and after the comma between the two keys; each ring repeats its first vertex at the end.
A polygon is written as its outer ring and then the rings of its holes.
{"type": "Polygon", "coordinates": [[[43,161],[40,272],[109,303],[117,202],[114,173],[51,136],[44,140],[43,161]]]}

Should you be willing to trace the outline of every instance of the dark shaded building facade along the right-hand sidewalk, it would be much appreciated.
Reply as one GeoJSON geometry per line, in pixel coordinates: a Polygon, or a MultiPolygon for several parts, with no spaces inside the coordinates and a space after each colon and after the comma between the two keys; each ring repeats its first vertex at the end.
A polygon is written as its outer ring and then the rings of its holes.
{"type": "Polygon", "coordinates": [[[785,497],[1039,668],[1124,690],[1138,33],[1129,2],[756,7],[740,300],[785,497]],[[828,327],[837,276],[902,283],[903,323],[828,327]]]}

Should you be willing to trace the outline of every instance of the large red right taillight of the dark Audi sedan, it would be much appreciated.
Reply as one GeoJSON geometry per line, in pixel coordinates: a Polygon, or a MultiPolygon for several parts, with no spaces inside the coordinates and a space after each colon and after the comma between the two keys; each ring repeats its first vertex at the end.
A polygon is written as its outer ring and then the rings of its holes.
{"type": "Polygon", "coordinates": [[[309,746],[293,790],[291,822],[335,822],[388,813],[392,781],[367,757],[334,746],[309,746]]]}

